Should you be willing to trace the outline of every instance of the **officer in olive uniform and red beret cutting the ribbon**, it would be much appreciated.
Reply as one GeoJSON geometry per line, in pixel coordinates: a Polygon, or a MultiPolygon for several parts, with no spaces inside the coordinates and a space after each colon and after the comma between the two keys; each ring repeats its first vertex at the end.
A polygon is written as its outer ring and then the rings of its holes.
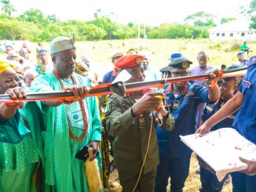
{"type": "MultiPolygon", "coordinates": [[[[129,72],[131,78],[127,82],[131,83],[144,82],[142,62],[143,56],[128,55],[116,60],[114,64],[119,71],[125,69],[129,72]]],[[[145,93],[142,90],[128,92],[126,97],[113,94],[106,107],[107,128],[115,136],[114,163],[125,192],[149,192],[154,189],[156,167],[159,164],[156,123],[151,115],[152,108],[159,106],[159,98],[155,96],[163,96],[163,93],[145,93]],[[143,161],[144,167],[141,169],[143,161]]],[[[163,128],[172,130],[172,116],[163,107],[159,112],[163,116],[163,128]]]]}

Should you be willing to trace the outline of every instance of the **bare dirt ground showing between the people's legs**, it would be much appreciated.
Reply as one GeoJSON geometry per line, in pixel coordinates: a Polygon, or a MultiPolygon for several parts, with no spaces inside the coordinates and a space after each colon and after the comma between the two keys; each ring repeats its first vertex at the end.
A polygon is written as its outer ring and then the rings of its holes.
{"type": "MultiPolygon", "coordinates": [[[[196,159],[196,155],[192,154],[192,158],[190,161],[190,169],[189,176],[185,182],[185,187],[183,188],[184,192],[198,192],[201,187],[200,176],[196,173],[196,169],[199,168],[198,161],[196,159]]],[[[117,170],[115,169],[109,179],[109,188],[104,189],[104,192],[121,192],[122,187],[119,185],[119,175],[117,170]]],[[[232,183],[229,180],[229,183],[225,183],[225,186],[222,189],[222,192],[231,192],[232,191],[232,183]]],[[[167,192],[170,192],[170,185],[167,187],[167,192]]]]}

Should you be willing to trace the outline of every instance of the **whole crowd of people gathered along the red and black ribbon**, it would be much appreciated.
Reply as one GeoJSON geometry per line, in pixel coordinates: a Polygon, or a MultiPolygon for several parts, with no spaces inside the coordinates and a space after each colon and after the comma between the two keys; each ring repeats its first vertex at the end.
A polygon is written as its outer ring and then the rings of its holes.
{"type": "MultiPolygon", "coordinates": [[[[210,129],[228,126],[256,143],[255,102],[251,100],[256,56],[246,64],[227,68],[249,66],[240,80],[218,78],[219,71],[208,64],[206,51],[198,53],[199,66],[192,70],[191,60],[174,53],[160,71],[155,71],[146,51],[119,51],[113,54],[113,70],[104,75],[103,83],[115,81],[123,72],[128,75],[125,83],[130,84],[160,78],[159,72],[162,78],[197,74],[209,74],[209,78],[97,98],[87,96],[97,79],[90,78],[90,62],[85,56],[75,61],[75,39],[54,38],[49,53],[52,67],[46,49],[38,49],[38,74],[24,81],[23,73],[34,69],[20,63],[20,70],[12,60],[0,60],[0,94],[13,100],[25,99],[27,92],[66,90],[74,95],[61,100],[55,97],[0,104],[0,191],[90,191],[93,183],[86,175],[89,167],[85,159],[97,159],[99,170],[105,168],[103,179],[108,179],[110,171],[105,163],[109,157],[104,154],[108,144],[104,148],[103,132],[112,143],[113,165],[126,192],[166,191],[169,178],[170,190],[182,191],[192,151],[181,142],[180,135],[197,132],[203,136],[210,129]],[[90,157],[83,150],[86,146],[93,149],[90,157]],[[81,153],[82,159],[78,158],[81,153]]],[[[233,191],[255,191],[256,161],[240,160],[248,166],[231,174],[233,191]]],[[[200,191],[221,191],[224,183],[203,167],[200,179],[200,191]]]]}

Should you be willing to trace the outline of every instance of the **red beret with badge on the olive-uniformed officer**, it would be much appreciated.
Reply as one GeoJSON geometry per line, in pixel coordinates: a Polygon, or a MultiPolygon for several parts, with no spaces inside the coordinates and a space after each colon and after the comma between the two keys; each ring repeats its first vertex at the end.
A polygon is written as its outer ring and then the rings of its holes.
{"type": "Polygon", "coordinates": [[[115,71],[126,68],[138,67],[143,63],[144,56],[141,55],[128,55],[122,56],[115,61],[115,71]]]}

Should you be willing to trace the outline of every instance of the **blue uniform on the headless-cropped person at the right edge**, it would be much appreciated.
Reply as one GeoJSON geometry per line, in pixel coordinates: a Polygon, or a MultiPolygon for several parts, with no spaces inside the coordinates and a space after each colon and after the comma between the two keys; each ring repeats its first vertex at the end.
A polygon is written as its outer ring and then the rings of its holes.
{"type": "MultiPolygon", "coordinates": [[[[249,67],[243,78],[239,91],[243,94],[243,104],[240,107],[233,128],[242,136],[256,144],[256,64],[249,67]]],[[[256,191],[256,176],[247,176],[241,172],[232,172],[233,192],[256,191]]]]}

